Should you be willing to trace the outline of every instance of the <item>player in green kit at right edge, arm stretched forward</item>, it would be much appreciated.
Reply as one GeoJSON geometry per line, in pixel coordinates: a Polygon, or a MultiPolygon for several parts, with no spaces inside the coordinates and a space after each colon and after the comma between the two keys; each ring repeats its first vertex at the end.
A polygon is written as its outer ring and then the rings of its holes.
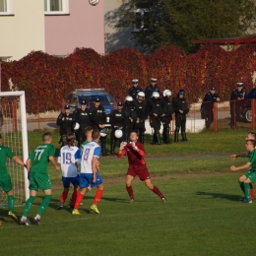
{"type": "Polygon", "coordinates": [[[246,150],[249,152],[249,159],[248,161],[238,167],[234,165],[230,166],[230,170],[240,170],[240,169],[249,169],[243,175],[238,178],[240,187],[244,193],[245,198],[242,200],[242,203],[251,204],[251,196],[250,196],[250,183],[256,183],[256,142],[254,140],[247,140],[246,141],[246,150]]]}

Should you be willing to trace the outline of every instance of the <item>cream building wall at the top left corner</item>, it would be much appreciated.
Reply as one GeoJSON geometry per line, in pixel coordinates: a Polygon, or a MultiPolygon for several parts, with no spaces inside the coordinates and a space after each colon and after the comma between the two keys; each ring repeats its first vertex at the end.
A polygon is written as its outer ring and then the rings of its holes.
{"type": "Polygon", "coordinates": [[[19,60],[44,50],[43,0],[13,0],[13,10],[14,16],[0,16],[0,56],[19,60]]]}

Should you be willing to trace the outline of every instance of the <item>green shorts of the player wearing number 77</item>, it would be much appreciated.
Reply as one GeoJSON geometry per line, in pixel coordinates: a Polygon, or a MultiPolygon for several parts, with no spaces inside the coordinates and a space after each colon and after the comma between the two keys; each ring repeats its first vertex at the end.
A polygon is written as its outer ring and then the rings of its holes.
{"type": "Polygon", "coordinates": [[[30,174],[30,190],[51,189],[50,177],[48,174],[32,172],[30,174]]]}

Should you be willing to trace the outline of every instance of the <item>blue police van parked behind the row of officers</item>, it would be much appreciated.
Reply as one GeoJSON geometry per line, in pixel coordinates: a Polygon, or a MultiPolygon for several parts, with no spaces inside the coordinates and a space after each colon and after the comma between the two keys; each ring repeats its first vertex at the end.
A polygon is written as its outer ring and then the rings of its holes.
{"type": "Polygon", "coordinates": [[[109,117],[111,111],[116,108],[116,101],[112,96],[108,95],[103,88],[76,89],[75,91],[70,92],[67,96],[64,96],[65,102],[70,105],[71,112],[80,107],[80,102],[82,100],[86,100],[87,107],[90,108],[94,105],[96,98],[99,98],[100,104],[105,109],[106,127],[110,127],[109,117]]]}

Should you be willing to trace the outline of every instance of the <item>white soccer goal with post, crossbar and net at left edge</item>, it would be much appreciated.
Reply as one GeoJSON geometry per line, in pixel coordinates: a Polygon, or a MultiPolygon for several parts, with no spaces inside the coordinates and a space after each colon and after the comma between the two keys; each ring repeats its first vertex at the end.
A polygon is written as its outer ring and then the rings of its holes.
{"type": "MultiPolygon", "coordinates": [[[[29,155],[24,92],[0,92],[0,133],[2,145],[26,162],[29,155]]],[[[27,170],[14,160],[6,159],[11,175],[15,204],[23,204],[29,197],[27,170]]],[[[7,207],[7,195],[0,187],[0,206],[7,207]]]]}

